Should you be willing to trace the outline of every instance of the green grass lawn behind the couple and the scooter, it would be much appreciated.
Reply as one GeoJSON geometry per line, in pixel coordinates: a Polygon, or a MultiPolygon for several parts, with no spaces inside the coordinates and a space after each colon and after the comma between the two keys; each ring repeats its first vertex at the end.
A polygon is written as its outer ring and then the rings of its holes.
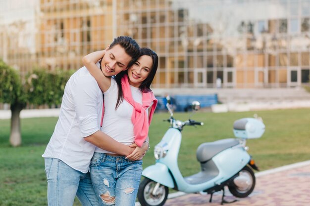
{"type": "MultiPolygon", "coordinates": [[[[205,125],[183,130],[179,167],[184,176],[199,171],[197,147],[207,141],[233,137],[235,120],[263,118],[266,131],[262,138],[248,140],[249,153],[261,170],[310,160],[310,109],[274,110],[240,113],[198,112],[192,119],[205,125]]],[[[189,113],[176,113],[175,118],[186,120],[189,113]]],[[[150,128],[151,149],[143,166],[155,163],[154,146],[169,127],[163,119],[166,113],[156,113],[150,128]]],[[[47,182],[44,159],[41,157],[52,135],[57,118],[22,120],[22,146],[9,146],[9,120],[0,120],[0,206],[46,206],[47,182]]],[[[74,206],[80,206],[78,201],[74,206]]]]}

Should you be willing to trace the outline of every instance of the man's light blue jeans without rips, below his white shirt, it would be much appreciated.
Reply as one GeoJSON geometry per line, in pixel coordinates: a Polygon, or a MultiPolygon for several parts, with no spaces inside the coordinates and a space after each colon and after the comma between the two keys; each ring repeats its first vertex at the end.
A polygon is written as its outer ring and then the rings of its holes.
{"type": "Polygon", "coordinates": [[[45,158],[45,172],[49,206],[72,206],[75,196],[82,206],[100,206],[89,172],[82,173],[55,158],[45,158]]]}

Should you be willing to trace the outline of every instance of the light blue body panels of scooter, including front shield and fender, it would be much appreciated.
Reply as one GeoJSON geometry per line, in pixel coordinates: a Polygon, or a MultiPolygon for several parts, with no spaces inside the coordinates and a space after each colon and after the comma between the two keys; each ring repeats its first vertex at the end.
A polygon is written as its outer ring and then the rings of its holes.
{"type": "Polygon", "coordinates": [[[142,175],[170,188],[174,188],[174,179],[179,191],[195,193],[228,180],[250,161],[250,155],[241,145],[228,148],[212,158],[219,170],[216,177],[201,184],[189,184],[182,176],[177,162],[181,140],[181,132],[178,129],[169,128],[158,143],[161,147],[168,149],[166,156],[157,160],[155,165],[144,169],[142,175]]]}

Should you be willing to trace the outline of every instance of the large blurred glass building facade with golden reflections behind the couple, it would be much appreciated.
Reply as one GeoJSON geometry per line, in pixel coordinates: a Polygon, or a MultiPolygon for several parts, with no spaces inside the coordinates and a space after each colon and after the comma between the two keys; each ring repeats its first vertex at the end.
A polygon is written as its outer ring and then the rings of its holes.
{"type": "Polygon", "coordinates": [[[0,0],[0,58],[21,73],[78,69],[127,35],[158,54],[154,88],[309,85],[310,0],[14,1],[0,0]]]}

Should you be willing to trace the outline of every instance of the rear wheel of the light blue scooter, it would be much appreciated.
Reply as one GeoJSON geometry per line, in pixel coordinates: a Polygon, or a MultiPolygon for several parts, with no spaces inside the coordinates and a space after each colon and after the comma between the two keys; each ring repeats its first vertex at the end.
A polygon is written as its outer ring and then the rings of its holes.
{"type": "Polygon", "coordinates": [[[228,189],[233,196],[245,198],[253,192],[255,183],[256,180],[253,170],[249,166],[245,166],[232,179],[232,182],[228,185],[228,189]]]}

